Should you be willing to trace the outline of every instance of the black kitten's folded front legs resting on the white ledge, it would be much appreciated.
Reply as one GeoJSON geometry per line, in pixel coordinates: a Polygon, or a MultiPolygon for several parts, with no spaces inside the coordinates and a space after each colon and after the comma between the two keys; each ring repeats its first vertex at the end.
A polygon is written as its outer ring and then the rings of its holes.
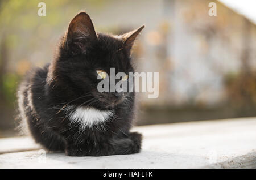
{"type": "Polygon", "coordinates": [[[131,132],[128,137],[115,137],[105,142],[90,142],[86,144],[68,145],[67,156],[109,156],[127,155],[141,151],[142,135],[131,132]]]}

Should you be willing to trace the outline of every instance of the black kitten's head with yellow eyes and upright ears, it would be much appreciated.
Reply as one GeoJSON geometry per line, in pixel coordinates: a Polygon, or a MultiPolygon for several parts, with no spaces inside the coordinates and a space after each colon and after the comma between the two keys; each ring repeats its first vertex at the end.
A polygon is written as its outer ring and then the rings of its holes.
{"type": "Polygon", "coordinates": [[[89,15],[79,13],[69,24],[61,40],[59,55],[49,68],[50,87],[53,91],[61,90],[59,93],[67,101],[77,98],[72,102],[76,105],[113,108],[120,104],[129,93],[99,92],[97,87],[101,79],[98,77],[110,76],[110,68],[115,68],[115,74],[134,72],[130,51],[143,28],[144,25],[119,36],[96,33],[89,15]]]}

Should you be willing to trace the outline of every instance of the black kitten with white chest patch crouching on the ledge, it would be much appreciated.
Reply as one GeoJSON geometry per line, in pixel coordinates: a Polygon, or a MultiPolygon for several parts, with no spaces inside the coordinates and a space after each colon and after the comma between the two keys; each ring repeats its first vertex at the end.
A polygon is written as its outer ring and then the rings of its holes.
{"type": "Polygon", "coordinates": [[[134,92],[98,92],[97,85],[112,67],[115,73],[134,72],[130,50],[143,28],[105,35],[95,32],[85,12],[73,18],[57,57],[29,72],[19,87],[20,117],[36,142],[68,156],[140,151],[142,135],[129,132],[134,92]]]}

